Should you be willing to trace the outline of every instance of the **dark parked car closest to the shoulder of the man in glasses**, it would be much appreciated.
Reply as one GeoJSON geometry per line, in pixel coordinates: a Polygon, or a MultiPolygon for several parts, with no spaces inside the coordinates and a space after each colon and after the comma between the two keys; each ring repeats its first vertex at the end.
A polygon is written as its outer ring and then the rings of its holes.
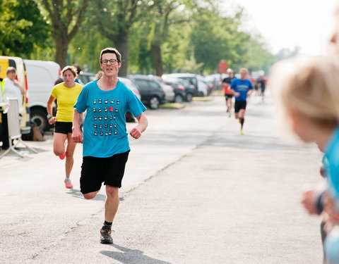
{"type": "Polygon", "coordinates": [[[157,109],[160,103],[165,103],[165,92],[159,82],[145,75],[128,75],[127,77],[136,84],[141,94],[141,101],[151,109],[157,109]]]}

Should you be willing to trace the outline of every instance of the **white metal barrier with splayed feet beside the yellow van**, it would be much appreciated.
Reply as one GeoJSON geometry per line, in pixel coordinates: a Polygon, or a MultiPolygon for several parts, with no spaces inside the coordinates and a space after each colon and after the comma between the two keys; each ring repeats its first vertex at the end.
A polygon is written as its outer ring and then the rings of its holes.
{"type": "Polygon", "coordinates": [[[24,157],[22,153],[15,149],[18,143],[25,145],[28,149],[32,152],[37,153],[35,149],[32,149],[30,146],[23,142],[21,139],[21,132],[20,132],[20,120],[19,120],[19,106],[18,106],[18,99],[17,98],[10,98],[8,99],[8,110],[7,112],[7,120],[8,120],[8,141],[9,141],[9,148],[0,156],[0,158],[4,157],[10,151],[18,154],[21,158],[24,157]],[[12,139],[16,139],[16,143],[12,144],[12,139]]]}

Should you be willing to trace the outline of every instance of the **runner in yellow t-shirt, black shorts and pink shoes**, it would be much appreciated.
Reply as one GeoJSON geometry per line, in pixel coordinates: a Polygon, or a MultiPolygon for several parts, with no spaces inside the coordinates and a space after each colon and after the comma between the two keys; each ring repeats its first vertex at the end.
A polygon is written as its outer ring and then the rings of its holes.
{"type": "Polygon", "coordinates": [[[61,70],[62,80],[52,89],[51,95],[47,101],[47,119],[50,125],[54,125],[53,151],[61,160],[66,157],[64,184],[66,188],[72,189],[73,184],[70,180],[73,168],[73,153],[76,149],[76,143],[72,140],[72,119],[73,105],[81,92],[82,86],[75,82],[76,68],[66,66],[61,70]],[[53,102],[57,100],[57,115],[53,116],[53,102]],[[67,140],[67,147],[65,144],[67,140]]]}

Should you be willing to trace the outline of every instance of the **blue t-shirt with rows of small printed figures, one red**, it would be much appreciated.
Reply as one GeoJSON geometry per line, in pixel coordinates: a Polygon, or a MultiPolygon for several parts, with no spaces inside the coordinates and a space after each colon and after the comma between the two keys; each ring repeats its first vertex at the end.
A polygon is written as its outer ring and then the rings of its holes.
{"type": "Polygon", "coordinates": [[[122,82],[110,91],[102,91],[97,80],[83,87],[74,108],[79,113],[87,111],[83,125],[83,156],[98,158],[129,151],[125,114],[130,111],[138,116],[146,110],[122,82]]]}

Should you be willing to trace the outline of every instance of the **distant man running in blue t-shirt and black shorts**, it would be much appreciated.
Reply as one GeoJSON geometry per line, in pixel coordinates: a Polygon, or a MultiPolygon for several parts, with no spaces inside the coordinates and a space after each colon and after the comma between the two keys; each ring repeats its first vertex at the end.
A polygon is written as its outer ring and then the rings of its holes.
{"type": "Polygon", "coordinates": [[[240,122],[240,134],[244,134],[242,128],[244,127],[245,122],[245,113],[246,113],[246,99],[252,92],[253,85],[249,79],[246,79],[246,76],[249,74],[249,71],[246,68],[240,69],[240,79],[234,79],[231,83],[231,91],[235,97],[234,103],[234,115],[240,122]]]}

